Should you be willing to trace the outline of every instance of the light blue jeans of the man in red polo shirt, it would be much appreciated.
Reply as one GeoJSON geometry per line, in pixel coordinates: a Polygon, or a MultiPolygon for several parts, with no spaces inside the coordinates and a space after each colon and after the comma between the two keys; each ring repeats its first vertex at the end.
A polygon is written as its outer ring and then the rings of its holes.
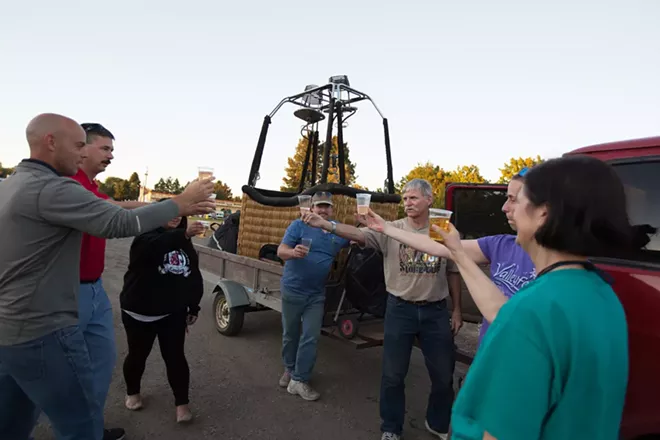
{"type": "Polygon", "coordinates": [[[104,408],[112,382],[112,371],[117,363],[117,348],[112,304],[101,279],[94,283],[80,284],[78,313],[78,325],[85,337],[92,362],[96,399],[104,408]]]}

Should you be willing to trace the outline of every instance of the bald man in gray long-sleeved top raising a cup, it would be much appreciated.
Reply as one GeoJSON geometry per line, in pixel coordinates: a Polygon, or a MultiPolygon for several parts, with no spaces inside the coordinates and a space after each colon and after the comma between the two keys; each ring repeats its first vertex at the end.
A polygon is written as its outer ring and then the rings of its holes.
{"type": "Polygon", "coordinates": [[[103,408],[77,326],[82,233],[130,237],[214,211],[213,183],[125,210],[67,177],[85,157],[75,121],[42,114],[26,137],[30,158],[0,183],[0,439],[27,439],[41,409],[58,439],[102,440],[103,408]]]}

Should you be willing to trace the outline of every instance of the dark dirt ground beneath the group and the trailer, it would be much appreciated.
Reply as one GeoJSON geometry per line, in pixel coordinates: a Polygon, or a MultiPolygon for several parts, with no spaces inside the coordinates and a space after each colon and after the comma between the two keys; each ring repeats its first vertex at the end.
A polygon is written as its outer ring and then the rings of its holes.
{"type": "MultiPolygon", "coordinates": [[[[157,346],[143,379],[146,407],[140,412],[126,410],[121,375],[126,338],[118,300],[130,243],[130,239],[108,242],[103,275],[114,307],[119,355],[106,405],[107,427],[123,427],[128,440],[380,439],[380,347],[356,350],[350,344],[322,337],[312,381],[322,397],[317,402],[305,402],[277,385],[282,372],[279,313],[247,314],[243,331],[229,338],[215,330],[210,296],[202,300],[200,319],[191,329],[186,345],[195,421],[189,426],[177,426],[157,346]]],[[[458,346],[474,352],[476,335],[477,326],[466,324],[457,337],[458,346]]],[[[463,371],[464,366],[457,364],[457,370],[463,371]]],[[[424,429],[429,389],[423,358],[415,349],[406,380],[406,440],[433,438],[424,429]]],[[[48,421],[41,420],[35,440],[53,438],[48,421]]]]}

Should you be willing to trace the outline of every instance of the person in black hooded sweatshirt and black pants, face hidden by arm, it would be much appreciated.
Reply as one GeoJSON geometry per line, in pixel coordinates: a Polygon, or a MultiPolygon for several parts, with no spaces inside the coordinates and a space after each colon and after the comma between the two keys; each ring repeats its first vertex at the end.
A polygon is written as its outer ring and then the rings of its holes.
{"type": "Polygon", "coordinates": [[[184,353],[188,326],[195,323],[204,285],[191,237],[204,230],[186,217],[133,240],[120,294],[128,354],[124,360],[126,407],[142,408],[140,381],[158,337],[167,379],[174,393],[177,422],[192,420],[188,407],[190,370],[184,353]]]}

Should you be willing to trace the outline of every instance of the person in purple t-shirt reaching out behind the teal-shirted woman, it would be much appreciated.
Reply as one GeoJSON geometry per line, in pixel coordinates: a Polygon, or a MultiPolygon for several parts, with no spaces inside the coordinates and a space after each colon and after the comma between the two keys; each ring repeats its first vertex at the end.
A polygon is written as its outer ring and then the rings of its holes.
{"type": "MultiPolygon", "coordinates": [[[[502,206],[502,212],[506,215],[509,225],[514,231],[516,230],[516,225],[513,220],[513,211],[516,206],[518,192],[523,186],[523,176],[527,170],[527,168],[523,168],[518,174],[513,176],[507,187],[506,202],[502,206]]],[[[370,229],[388,235],[403,244],[426,252],[429,255],[442,258],[449,258],[450,256],[449,250],[444,245],[433,241],[425,235],[407,232],[402,229],[387,228],[385,220],[373,212],[370,212],[364,218],[363,222],[370,229]]],[[[507,299],[515,295],[518,290],[536,277],[534,263],[532,263],[527,252],[516,244],[515,235],[491,235],[477,240],[462,240],[461,243],[466,254],[475,263],[490,263],[491,278],[507,299]]],[[[480,296],[479,292],[471,292],[471,295],[484,317],[479,330],[479,343],[481,343],[489,324],[497,316],[497,312],[500,310],[504,300],[493,298],[490,295],[480,296]]]]}

